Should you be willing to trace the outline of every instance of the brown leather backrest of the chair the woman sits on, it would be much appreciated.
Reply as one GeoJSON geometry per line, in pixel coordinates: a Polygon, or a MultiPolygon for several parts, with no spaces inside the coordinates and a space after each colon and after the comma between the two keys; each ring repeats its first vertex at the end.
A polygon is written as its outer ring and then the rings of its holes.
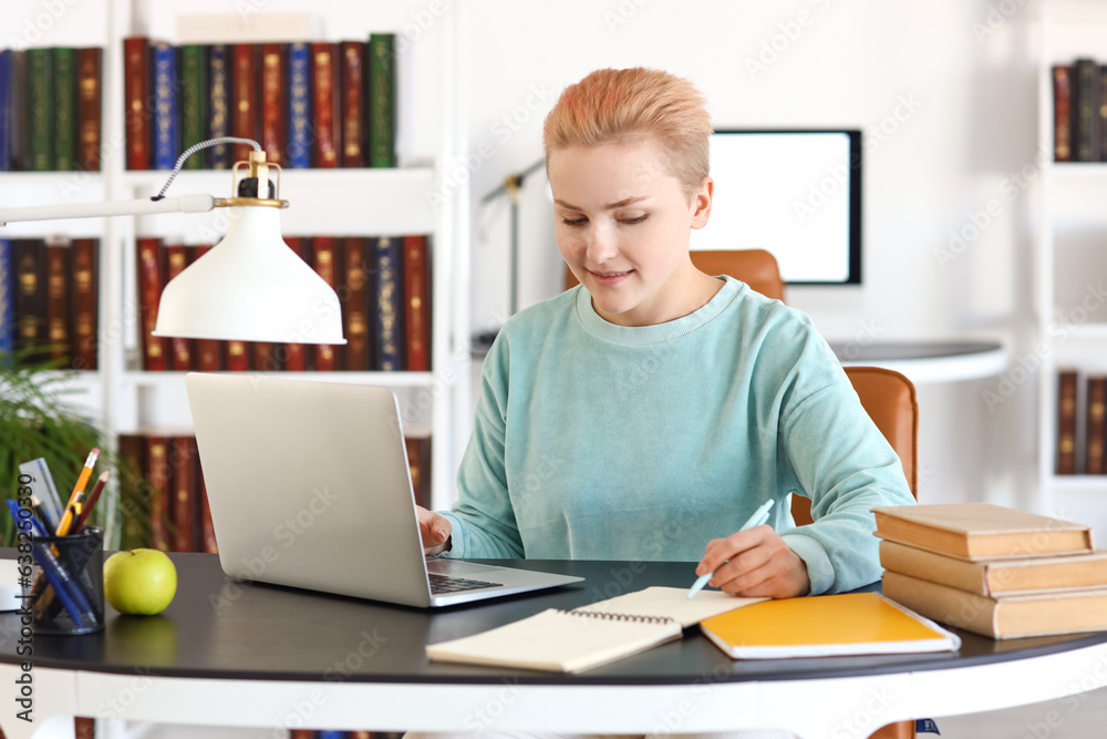
{"type": "MultiPolygon", "coordinates": [[[[899,372],[880,367],[847,367],[846,376],[872,422],[899,454],[911,494],[918,497],[919,402],[914,384],[899,372]]],[[[793,495],[792,517],[796,525],[811,523],[811,502],[793,495]]]]}

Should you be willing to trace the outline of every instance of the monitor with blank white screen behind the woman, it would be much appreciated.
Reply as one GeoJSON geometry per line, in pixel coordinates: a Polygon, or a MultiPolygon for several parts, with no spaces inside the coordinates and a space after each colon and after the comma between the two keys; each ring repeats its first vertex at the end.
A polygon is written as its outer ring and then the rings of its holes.
{"type": "Polygon", "coordinates": [[[861,283],[861,132],[716,131],[693,249],[766,249],[793,285],[861,283]]]}

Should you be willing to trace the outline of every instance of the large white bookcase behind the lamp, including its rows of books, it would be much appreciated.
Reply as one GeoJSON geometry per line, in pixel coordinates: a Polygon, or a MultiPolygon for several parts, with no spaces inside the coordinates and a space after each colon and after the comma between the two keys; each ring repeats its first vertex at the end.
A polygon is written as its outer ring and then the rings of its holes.
{"type": "MultiPolygon", "coordinates": [[[[0,199],[148,197],[189,145],[255,138],[281,166],[282,236],[339,294],[348,343],[151,336],[165,284],[225,233],[215,211],[6,227],[0,351],[72,371],[60,381],[121,447],[187,438],[186,371],[391,387],[422,443],[420,500],[448,505],[469,412],[468,192],[444,175],[464,141],[452,13],[412,35],[414,0],[239,4],[91,0],[42,27],[19,0],[18,44],[0,50],[0,199]]],[[[244,154],[201,150],[167,195],[231,195],[244,154]]]]}

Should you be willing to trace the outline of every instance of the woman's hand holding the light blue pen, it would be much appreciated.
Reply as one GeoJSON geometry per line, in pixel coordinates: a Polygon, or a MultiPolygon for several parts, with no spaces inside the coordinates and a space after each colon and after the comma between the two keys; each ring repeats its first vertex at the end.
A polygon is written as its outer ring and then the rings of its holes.
{"type": "Polygon", "coordinates": [[[743,597],[790,598],[807,595],[807,565],[772,526],[754,526],[707,542],[697,575],[715,571],[710,585],[743,597]]]}

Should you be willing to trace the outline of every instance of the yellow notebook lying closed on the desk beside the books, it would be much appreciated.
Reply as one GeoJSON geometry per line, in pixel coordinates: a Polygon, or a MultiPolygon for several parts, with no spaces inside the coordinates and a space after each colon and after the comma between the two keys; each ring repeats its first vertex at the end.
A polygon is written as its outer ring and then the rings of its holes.
{"type": "Polygon", "coordinates": [[[704,635],[735,659],[953,651],[961,638],[878,593],[765,601],[713,616],[704,635]]]}

